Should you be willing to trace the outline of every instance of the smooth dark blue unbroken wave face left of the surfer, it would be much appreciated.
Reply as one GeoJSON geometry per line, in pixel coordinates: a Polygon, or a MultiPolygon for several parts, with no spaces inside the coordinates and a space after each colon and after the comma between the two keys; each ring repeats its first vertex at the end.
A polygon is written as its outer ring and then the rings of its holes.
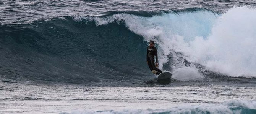
{"type": "Polygon", "coordinates": [[[102,25],[53,18],[1,25],[1,72],[30,81],[99,82],[142,80],[146,42],[124,24],[102,25]]]}

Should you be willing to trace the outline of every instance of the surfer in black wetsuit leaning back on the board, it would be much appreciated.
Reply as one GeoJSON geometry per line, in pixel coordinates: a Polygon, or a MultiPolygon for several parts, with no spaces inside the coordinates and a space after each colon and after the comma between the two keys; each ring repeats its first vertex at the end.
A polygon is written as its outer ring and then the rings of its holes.
{"type": "Polygon", "coordinates": [[[150,41],[149,46],[147,47],[147,65],[149,65],[149,69],[152,73],[159,75],[162,71],[156,67],[158,67],[158,60],[157,60],[157,49],[155,47],[155,42],[150,41]],[[154,56],[156,56],[156,65],[154,62],[154,56]]]}

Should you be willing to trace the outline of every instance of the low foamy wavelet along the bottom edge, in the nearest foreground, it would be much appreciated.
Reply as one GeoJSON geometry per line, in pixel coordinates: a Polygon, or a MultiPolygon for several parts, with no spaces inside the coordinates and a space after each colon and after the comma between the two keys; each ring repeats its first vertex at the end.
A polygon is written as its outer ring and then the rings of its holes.
{"type": "MultiPolygon", "coordinates": [[[[156,109],[156,110],[141,110],[141,109],[126,109],[121,111],[89,111],[89,110],[75,110],[70,113],[63,112],[62,114],[241,114],[242,108],[246,110],[255,110],[256,101],[250,100],[233,100],[224,103],[210,104],[185,104],[175,106],[169,109],[156,109]]],[[[245,111],[246,112],[246,111],[245,111]]],[[[250,112],[250,111],[249,111],[250,112]]]]}

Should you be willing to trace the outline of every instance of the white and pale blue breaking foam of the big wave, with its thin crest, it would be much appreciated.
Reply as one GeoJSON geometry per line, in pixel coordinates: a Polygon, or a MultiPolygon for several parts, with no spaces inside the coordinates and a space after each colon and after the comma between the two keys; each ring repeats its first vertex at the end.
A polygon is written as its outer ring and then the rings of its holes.
{"type": "Polygon", "coordinates": [[[74,16],[74,20],[93,20],[97,26],[125,22],[131,32],[141,35],[144,40],[156,40],[160,48],[160,68],[172,54],[176,59],[172,62],[172,71],[185,67],[183,63],[188,60],[223,75],[255,77],[254,13],[255,9],[243,6],[231,8],[223,14],[199,10],[153,17],[130,14],[104,18],[74,16]],[[173,51],[182,55],[175,55],[173,51]],[[185,60],[177,63],[179,57],[185,60]]]}

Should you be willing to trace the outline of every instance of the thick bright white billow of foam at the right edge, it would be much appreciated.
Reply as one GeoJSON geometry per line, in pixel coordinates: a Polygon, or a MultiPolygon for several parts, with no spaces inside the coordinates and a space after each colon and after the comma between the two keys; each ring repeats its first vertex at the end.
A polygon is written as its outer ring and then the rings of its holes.
{"type": "Polygon", "coordinates": [[[255,9],[247,7],[228,10],[217,19],[206,40],[198,37],[183,52],[210,70],[229,76],[256,77],[255,14],[255,9]]]}

